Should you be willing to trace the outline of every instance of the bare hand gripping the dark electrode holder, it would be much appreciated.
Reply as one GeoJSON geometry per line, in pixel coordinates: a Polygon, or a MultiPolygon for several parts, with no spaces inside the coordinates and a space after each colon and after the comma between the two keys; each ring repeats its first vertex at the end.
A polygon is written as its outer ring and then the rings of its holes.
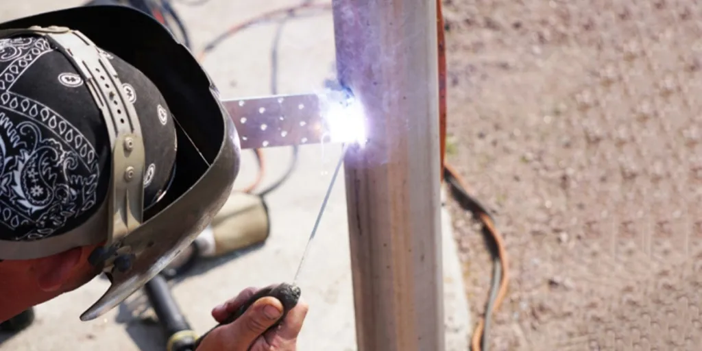
{"type": "MultiPolygon", "coordinates": [[[[257,291],[256,288],[241,291],[236,298],[215,307],[212,317],[218,323],[225,322],[227,317],[236,312],[239,306],[257,291]]],[[[266,332],[280,319],[283,305],[276,298],[260,298],[239,319],[208,333],[197,347],[197,351],[296,351],[298,334],[308,308],[300,298],[298,304],[286,314],[280,326],[266,332]]]]}

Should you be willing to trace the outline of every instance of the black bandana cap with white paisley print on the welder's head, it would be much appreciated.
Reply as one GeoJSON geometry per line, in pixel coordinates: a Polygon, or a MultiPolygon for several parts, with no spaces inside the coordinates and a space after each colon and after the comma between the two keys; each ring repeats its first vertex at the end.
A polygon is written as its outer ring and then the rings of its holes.
{"type": "MultiPolygon", "coordinates": [[[[171,112],[138,69],[107,53],[146,147],[145,205],[176,157],[171,112]]],[[[42,37],[0,39],[0,240],[62,234],[93,216],[110,180],[110,140],[85,82],[42,37]]]]}

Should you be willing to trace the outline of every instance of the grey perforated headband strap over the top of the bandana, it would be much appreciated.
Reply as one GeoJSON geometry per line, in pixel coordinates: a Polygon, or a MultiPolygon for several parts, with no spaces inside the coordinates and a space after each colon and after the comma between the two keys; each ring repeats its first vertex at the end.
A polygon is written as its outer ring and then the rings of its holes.
{"type": "Polygon", "coordinates": [[[39,34],[66,55],[78,70],[98,105],[110,137],[112,176],[107,201],[110,213],[108,244],[126,236],[143,222],[145,150],[139,118],[129,102],[110,59],[81,32],[66,27],[6,29],[0,37],[39,34]]]}

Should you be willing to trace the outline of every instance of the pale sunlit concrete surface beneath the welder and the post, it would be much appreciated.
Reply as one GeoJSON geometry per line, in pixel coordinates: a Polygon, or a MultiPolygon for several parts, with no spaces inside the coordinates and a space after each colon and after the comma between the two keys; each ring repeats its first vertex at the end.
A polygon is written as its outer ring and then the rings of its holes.
{"type": "MultiPolygon", "coordinates": [[[[77,6],[81,1],[27,0],[6,2],[0,20],[77,6]]],[[[197,48],[220,34],[228,25],[258,13],[294,4],[295,1],[212,0],[204,6],[178,5],[197,48]]],[[[205,67],[225,97],[269,93],[270,44],[274,25],[242,32],[208,56],[205,67]]],[[[288,22],[280,45],[279,89],[281,93],[305,93],[322,88],[334,77],[331,15],[288,22]]],[[[265,286],[291,279],[307,236],[322,202],[340,148],[310,145],[300,150],[293,176],[268,199],[272,214],[272,237],[263,248],[236,257],[220,258],[199,267],[197,274],[179,282],[173,293],[192,326],[204,332],[213,326],[209,311],[247,286],[265,286]]],[[[290,150],[266,151],[267,181],[282,174],[290,150]]],[[[255,161],[246,152],[237,187],[255,176],[255,161]]],[[[446,283],[447,350],[468,350],[468,303],[463,293],[463,274],[444,211],[444,274],[446,283]]],[[[300,336],[300,350],[355,350],[349,245],[343,178],[337,180],[319,228],[317,242],[300,279],[310,314],[300,336]]],[[[0,350],[164,350],[165,339],[150,321],[145,296],[136,293],[99,320],[80,322],[79,314],[107,289],[105,279],[95,279],[78,291],[37,307],[37,321],[16,336],[0,336],[0,350]]],[[[429,350],[428,350],[429,351],[429,350]]]]}

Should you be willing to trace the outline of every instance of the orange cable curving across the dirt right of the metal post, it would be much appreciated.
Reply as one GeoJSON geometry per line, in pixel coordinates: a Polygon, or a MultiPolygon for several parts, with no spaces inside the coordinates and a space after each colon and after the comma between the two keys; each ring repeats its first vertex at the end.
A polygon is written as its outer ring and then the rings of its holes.
{"type": "Polygon", "coordinates": [[[482,222],[485,232],[494,240],[494,244],[497,248],[494,262],[496,265],[500,266],[499,272],[501,274],[496,275],[501,275],[501,277],[494,277],[486,313],[484,317],[479,320],[471,339],[472,351],[486,351],[486,348],[481,347],[481,341],[483,345],[487,344],[486,331],[489,331],[489,329],[486,329],[486,326],[489,328],[489,319],[492,318],[494,312],[498,310],[502,304],[507,294],[509,284],[509,259],[507,251],[505,250],[505,242],[502,234],[496,229],[492,216],[490,216],[489,212],[479,201],[468,194],[468,187],[465,185],[465,182],[463,182],[463,178],[461,178],[458,172],[449,164],[446,164],[444,167],[444,180],[449,184],[451,194],[453,194],[453,198],[458,201],[461,208],[474,213],[480,222],[482,222]]]}

